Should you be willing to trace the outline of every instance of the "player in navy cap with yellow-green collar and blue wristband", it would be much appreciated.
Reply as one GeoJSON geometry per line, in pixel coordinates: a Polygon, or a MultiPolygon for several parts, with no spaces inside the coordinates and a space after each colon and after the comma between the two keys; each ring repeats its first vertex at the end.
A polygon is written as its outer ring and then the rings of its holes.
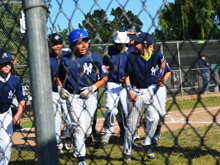
{"type": "Polygon", "coordinates": [[[148,127],[146,138],[142,142],[142,148],[146,151],[149,159],[154,159],[151,140],[158,124],[159,114],[151,84],[158,77],[163,76],[166,61],[161,53],[152,52],[148,49],[151,45],[149,42],[150,34],[139,32],[129,37],[135,41],[135,44],[134,52],[129,54],[125,67],[125,84],[129,97],[127,127],[123,146],[123,156],[126,163],[131,162],[132,136],[136,132],[138,118],[143,106],[145,107],[148,127]]]}

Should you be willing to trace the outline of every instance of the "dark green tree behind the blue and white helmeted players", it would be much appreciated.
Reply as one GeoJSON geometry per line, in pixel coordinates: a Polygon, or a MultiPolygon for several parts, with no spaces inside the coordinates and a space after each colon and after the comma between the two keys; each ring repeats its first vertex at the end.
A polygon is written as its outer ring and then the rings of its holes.
{"type": "Polygon", "coordinates": [[[112,21],[108,20],[107,14],[104,10],[95,10],[93,14],[87,13],[85,20],[79,24],[79,28],[85,29],[92,39],[92,43],[108,43],[114,31],[126,30],[129,23],[137,23],[143,25],[140,19],[132,13],[117,7],[112,9],[111,16],[114,16],[112,21]]]}

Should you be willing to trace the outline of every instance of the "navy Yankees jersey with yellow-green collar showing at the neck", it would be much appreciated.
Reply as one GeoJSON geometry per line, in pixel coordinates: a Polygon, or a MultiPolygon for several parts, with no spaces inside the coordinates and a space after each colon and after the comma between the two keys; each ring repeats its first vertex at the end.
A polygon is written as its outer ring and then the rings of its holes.
{"type": "Polygon", "coordinates": [[[152,52],[148,60],[140,54],[131,52],[126,62],[125,72],[129,74],[132,85],[147,88],[158,78],[158,70],[164,60],[164,55],[158,51],[152,52]]]}

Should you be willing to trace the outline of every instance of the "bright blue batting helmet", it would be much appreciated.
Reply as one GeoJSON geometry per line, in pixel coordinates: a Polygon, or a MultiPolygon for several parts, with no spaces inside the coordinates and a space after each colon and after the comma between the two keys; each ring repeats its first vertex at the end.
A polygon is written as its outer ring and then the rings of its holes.
{"type": "Polygon", "coordinates": [[[69,47],[72,51],[74,50],[73,43],[77,42],[81,38],[89,38],[90,39],[88,34],[82,29],[75,29],[69,34],[69,37],[68,37],[69,47]]]}

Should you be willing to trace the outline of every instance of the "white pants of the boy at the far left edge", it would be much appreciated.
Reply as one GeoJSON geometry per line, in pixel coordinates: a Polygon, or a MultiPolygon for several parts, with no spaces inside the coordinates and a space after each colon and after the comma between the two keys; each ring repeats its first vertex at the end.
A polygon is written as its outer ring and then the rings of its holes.
{"type": "Polygon", "coordinates": [[[0,114],[0,165],[7,165],[11,156],[11,135],[13,133],[11,108],[0,114]]]}

